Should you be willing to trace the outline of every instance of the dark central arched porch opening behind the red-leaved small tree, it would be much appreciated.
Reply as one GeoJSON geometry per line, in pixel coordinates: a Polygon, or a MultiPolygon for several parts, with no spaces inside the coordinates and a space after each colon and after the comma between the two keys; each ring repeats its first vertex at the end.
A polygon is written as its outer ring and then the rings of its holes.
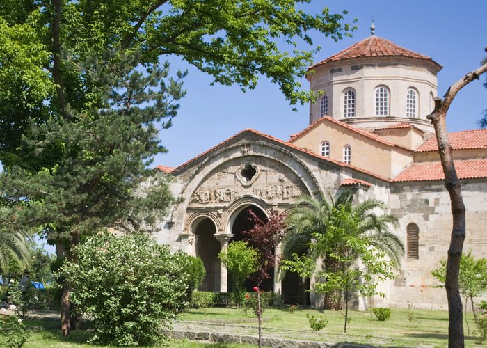
{"type": "MultiPolygon", "coordinates": [[[[235,216],[234,222],[232,224],[232,241],[240,241],[246,239],[244,235],[244,231],[248,231],[254,226],[254,222],[250,219],[250,211],[252,211],[255,215],[257,215],[260,219],[267,220],[266,214],[255,205],[248,205],[241,209],[241,211],[235,216]]],[[[273,268],[269,269],[269,274],[271,278],[266,279],[260,285],[260,288],[264,291],[273,291],[274,290],[274,270],[273,268]]],[[[252,279],[248,279],[245,283],[246,291],[252,292],[253,287],[255,287],[255,281],[252,279]]],[[[232,289],[232,280],[229,277],[228,280],[228,289],[232,289]]]]}

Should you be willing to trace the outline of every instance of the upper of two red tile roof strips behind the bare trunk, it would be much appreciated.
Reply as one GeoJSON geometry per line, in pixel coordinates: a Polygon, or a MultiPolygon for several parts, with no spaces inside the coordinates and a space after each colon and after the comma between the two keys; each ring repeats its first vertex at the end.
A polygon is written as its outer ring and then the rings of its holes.
{"type": "MultiPolygon", "coordinates": [[[[448,133],[448,139],[453,150],[484,149],[487,148],[487,129],[448,133]]],[[[416,152],[429,151],[438,151],[436,136],[431,136],[416,150],[416,152]]]]}

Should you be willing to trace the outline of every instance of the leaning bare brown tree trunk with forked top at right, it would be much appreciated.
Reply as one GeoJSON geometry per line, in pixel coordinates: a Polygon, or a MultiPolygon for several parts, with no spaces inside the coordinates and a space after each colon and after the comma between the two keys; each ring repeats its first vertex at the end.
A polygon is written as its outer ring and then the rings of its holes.
{"type": "MultiPolygon", "coordinates": [[[[487,49],[487,47],[486,47],[487,49]]],[[[458,286],[458,274],[465,240],[465,205],[461,193],[461,182],[456,175],[455,164],[452,157],[452,146],[447,134],[447,112],[456,94],[467,84],[478,79],[487,71],[487,62],[476,70],[469,72],[462,79],[456,81],[440,98],[435,98],[435,108],[427,116],[435,128],[438,153],[441,166],[445,173],[445,187],[452,204],[452,237],[448,248],[447,273],[445,276],[445,289],[448,300],[448,345],[449,347],[464,347],[465,336],[463,334],[462,301],[458,286]]]]}

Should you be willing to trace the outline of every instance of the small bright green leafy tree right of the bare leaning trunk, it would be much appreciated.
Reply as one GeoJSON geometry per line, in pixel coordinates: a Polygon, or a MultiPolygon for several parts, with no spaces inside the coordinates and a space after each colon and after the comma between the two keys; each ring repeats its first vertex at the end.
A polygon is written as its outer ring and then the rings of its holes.
{"type": "MultiPolygon", "coordinates": [[[[436,269],[431,274],[440,282],[445,283],[447,274],[447,260],[442,259],[436,269]]],[[[458,287],[465,299],[465,322],[467,322],[467,301],[470,299],[474,318],[477,320],[475,313],[474,297],[478,297],[487,290],[487,259],[476,259],[472,256],[472,251],[468,254],[462,254],[460,262],[460,273],[458,274],[458,287]]],[[[467,322],[468,328],[468,322],[467,322]]],[[[469,329],[470,331],[470,329],[469,329]]]]}

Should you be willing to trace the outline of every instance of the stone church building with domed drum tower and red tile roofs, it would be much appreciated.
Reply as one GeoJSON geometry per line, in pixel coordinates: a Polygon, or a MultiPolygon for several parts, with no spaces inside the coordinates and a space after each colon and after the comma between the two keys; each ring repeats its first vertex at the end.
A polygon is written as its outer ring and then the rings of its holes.
{"type": "MultiPolygon", "coordinates": [[[[177,168],[157,167],[173,177],[172,192],[181,198],[158,242],[202,258],[207,276],[200,290],[226,292],[217,254],[251,227],[248,209],[265,217],[271,209],[287,212],[303,195],[352,190],[356,200],[388,205],[400,224],[393,232],[406,247],[399,276],[381,285],[386,296],[376,303],[446,308],[431,269],[447,255],[452,215],[426,120],[441,68],[375,35],[312,65],[310,88],[323,94],[310,105],[306,129],[288,140],[245,129],[177,168]]],[[[467,208],[464,250],[487,256],[487,130],[453,132],[449,139],[467,208]]],[[[264,285],[287,303],[308,302],[308,288],[312,281],[303,284],[293,274],[264,285]]]]}

